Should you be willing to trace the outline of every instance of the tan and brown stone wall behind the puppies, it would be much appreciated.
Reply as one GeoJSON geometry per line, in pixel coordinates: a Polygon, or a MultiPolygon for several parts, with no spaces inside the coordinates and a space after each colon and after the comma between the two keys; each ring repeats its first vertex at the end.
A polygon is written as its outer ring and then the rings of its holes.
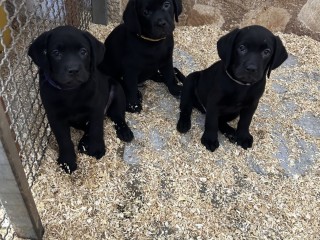
{"type": "MultiPolygon", "coordinates": [[[[108,0],[110,22],[120,22],[128,0],[108,0]]],[[[211,24],[222,30],[259,24],[272,31],[320,41],[319,0],[183,0],[179,25],[211,24]]]]}

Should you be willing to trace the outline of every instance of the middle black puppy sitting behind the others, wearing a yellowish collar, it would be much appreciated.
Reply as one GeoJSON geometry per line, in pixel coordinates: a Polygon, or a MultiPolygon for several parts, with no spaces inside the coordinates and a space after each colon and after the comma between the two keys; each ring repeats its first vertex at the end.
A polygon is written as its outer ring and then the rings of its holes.
{"type": "Polygon", "coordinates": [[[142,110],[138,84],[148,78],[161,79],[171,94],[180,95],[173,70],[172,32],[181,11],[181,0],[129,0],[124,22],[107,37],[99,68],[122,82],[129,112],[142,110]]]}

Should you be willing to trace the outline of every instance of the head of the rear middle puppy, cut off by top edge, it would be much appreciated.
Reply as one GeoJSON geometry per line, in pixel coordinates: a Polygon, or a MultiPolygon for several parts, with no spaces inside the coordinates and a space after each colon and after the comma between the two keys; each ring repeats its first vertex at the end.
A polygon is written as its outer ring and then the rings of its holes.
{"type": "Polygon", "coordinates": [[[161,39],[173,32],[181,12],[181,0],[129,0],[123,21],[133,33],[161,39]]]}

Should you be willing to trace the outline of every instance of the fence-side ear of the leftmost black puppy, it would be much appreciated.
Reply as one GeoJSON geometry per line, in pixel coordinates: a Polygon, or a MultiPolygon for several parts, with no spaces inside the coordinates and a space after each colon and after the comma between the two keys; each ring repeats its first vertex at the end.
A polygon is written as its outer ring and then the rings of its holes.
{"type": "Polygon", "coordinates": [[[42,69],[45,69],[48,66],[47,42],[49,35],[50,32],[42,33],[31,43],[28,50],[28,55],[31,57],[32,61],[42,69]]]}

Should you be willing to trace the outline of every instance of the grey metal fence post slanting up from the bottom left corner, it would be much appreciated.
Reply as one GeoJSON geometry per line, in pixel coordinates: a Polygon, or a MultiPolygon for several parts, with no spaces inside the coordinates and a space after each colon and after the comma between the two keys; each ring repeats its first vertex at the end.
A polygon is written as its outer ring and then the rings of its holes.
{"type": "Polygon", "coordinates": [[[42,239],[44,228],[38,214],[9,119],[0,97],[0,199],[16,235],[42,239]]]}

